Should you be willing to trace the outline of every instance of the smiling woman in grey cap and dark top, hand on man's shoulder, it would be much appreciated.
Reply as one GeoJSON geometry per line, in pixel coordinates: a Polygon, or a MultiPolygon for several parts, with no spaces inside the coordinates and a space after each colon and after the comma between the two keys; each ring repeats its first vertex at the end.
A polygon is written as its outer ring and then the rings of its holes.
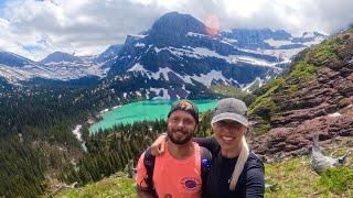
{"type": "MultiPolygon", "coordinates": [[[[213,155],[205,197],[264,197],[264,164],[247,146],[246,105],[235,98],[218,101],[211,121],[214,138],[193,141],[213,155]]],[[[152,153],[164,151],[165,136],[152,144],[152,153]]]]}

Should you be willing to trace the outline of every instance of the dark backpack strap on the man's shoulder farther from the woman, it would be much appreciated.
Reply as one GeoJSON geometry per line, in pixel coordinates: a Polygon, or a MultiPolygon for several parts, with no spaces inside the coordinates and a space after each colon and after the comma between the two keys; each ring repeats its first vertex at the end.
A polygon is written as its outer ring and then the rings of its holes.
{"type": "Polygon", "coordinates": [[[147,184],[148,191],[157,197],[157,193],[153,186],[153,169],[154,169],[154,161],[156,156],[152,155],[151,148],[147,148],[145,152],[143,164],[146,167],[147,175],[145,176],[143,180],[147,184]]]}

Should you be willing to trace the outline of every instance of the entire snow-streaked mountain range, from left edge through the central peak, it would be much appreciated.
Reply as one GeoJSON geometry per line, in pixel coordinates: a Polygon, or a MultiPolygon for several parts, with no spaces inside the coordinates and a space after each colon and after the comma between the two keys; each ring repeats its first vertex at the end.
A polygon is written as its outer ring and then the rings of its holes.
{"type": "Polygon", "coordinates": [[[111,45],[97,56],[55,52],[36,63],[1,51],[0,76],[22,85],[32,79],[107,77],[100,87],[145,98],[178,98],[200,95],[212,85],[243,89],[263,85],[280,74],[293,55],[324,38],[315,32],[295,37],[269,29],[210,35],[192,15],[171,12],[150,30],[128,35],[125,44],[111,45]]]}

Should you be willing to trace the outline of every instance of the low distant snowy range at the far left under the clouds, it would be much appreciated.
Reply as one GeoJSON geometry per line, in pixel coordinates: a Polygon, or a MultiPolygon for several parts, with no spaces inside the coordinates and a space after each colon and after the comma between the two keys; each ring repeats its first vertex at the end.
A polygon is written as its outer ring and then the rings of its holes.
{"type": "Polygon", "coordinates": [[[55,52],[40,62],[33,62],[12,53],[0,52],[0,76],[18,85],[33,81],[33,79],[68,81],[87,77],[105,77],[109,69],[106,63],[114,58],[100,56],[101,63],[95,59],[96,57],[78,57],[55,52]]]}

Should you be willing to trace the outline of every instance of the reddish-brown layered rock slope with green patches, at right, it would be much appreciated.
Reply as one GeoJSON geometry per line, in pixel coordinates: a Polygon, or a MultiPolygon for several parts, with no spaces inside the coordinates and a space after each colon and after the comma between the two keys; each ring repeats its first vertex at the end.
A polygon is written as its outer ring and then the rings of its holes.
{"type": "Polygon", "coordinates": [[[302,52],[257,95],[249,113],[259,154],[308,153],[315,133],[320,141],[353,135],[353,29],[302,52]]]}

